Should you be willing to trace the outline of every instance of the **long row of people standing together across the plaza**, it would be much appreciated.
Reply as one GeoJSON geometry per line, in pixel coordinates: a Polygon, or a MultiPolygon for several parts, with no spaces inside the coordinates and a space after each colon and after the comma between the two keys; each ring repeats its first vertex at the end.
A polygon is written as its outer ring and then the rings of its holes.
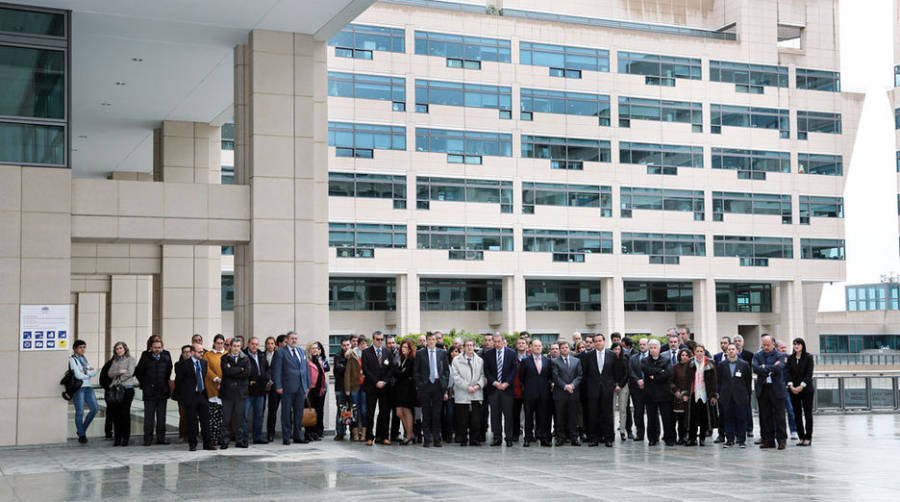
{"type": "Polygon", "coordinates": [[[173,364],[160,337],[152,336],[137,361],[117,342],[99,372],[77,340],[69,367],[84,382],[72,398],[82,443],[97,413],[90,382],[98,373],[106,436],[115,446],[129,444],[136,387],[144,404],[144,446],[169,443],[169,399],[177,402],[179,435],[192,451],[198,441],[208,450],[274,441],[279,416],[283,444],[319,441],[331,372],[337,441],[480,446],[490,432],[491,446],[511,447],[521,439],[523,447],[553,440],[612,447],[618,432],[620,441],[692,447],[705,446],[717,431],[715,443],[744,448],[753,437],[755,392],[760,448],[784,449],[788,424],[798,446],[812,444],[813,358],[802,338],[788,351],[763,335],[754,353],[740,335],[724,336],[714,355],[684,328],[668,330],[665,340],[574,333],[571,341],[545,349],[523,332],[515,348],[499,333],[476,347],[460,338],[445,345],[440,332],[398,344],[376,331],[371,345],[365,336],[343,339],[329,363],[321,343],[300,347],[294,332],[262,345],[256,337],[216,335],[210,349],[194,335],[173,364]]]}

